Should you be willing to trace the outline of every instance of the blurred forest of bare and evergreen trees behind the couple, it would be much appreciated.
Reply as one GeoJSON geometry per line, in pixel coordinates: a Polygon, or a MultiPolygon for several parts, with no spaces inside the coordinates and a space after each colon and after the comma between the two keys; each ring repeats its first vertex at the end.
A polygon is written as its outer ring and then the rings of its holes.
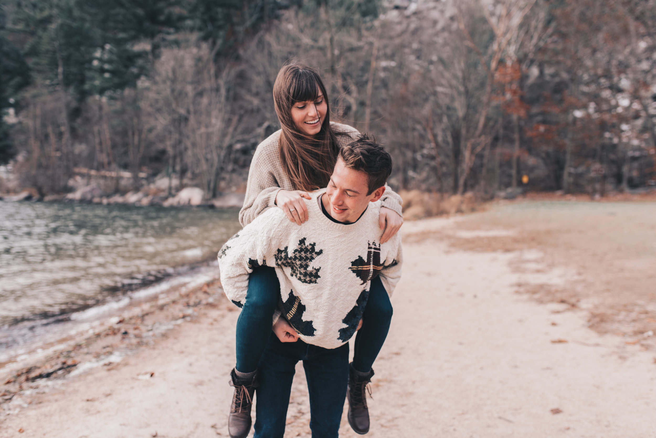
{"type": "Polygon", "coordinates": [[[0,192],[243,192],[286,62],[395,189],[656,186],[656,0],[2,0],[0,192]]]}

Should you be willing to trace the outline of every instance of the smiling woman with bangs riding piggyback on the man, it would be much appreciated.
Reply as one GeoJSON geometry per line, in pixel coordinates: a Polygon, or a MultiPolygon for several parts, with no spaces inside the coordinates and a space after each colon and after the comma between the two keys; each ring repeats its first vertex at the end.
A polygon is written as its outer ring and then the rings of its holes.
{"type": "MultiPolygon", "coordinates": [[[[282,209],[298,225],[305,222],[308,210],[302,198],[310,199],[308,191],[327,186],[338,150],[359,134],[348,125],[331,123],[321,77],[307,66],[288,65],[279,71],[274,104],[281,130],[260,143],[253,155],[246,197],[239,212],[242,226],[270,208],[282,209]]],[[[381,201],[379,223],[385,231],[380,243],[384,243],[403,224],[402,201],[390,188],[381,201]]],[[[234,437],[245,437],[251,426],[256,367],[271,333],[279,289],[274,268],[255,268],[249,277],[247,297],[237,321],[237,364],[232,373],[236,390],[229,429],[234,437]]],[[[392,305],[379,278],[371,281],[370,290],[363,314],[367,324],[356,336],[350,380],[350,388],[358,386],[360,390],[373,375],[371,365],[384,343],[392,317],[392,305]]]]}

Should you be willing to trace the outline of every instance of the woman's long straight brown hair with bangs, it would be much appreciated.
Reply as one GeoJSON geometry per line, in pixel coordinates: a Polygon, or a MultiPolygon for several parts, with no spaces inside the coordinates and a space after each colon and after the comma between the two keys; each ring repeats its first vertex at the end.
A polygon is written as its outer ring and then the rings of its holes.
{"type": "Polygon", "coordinates": [[[330,126],[328,94],[319,73],[300,64],[281,68],[274,83],[274,104],[282,128],[280,160],[294,188],[311,191],[327,186],[339,146],[330,126]],[[314,102],[319,94],[323,94],[327,109],[321,130],[312,136],[298,129],[291,108],[298,102],[314,102]]]}

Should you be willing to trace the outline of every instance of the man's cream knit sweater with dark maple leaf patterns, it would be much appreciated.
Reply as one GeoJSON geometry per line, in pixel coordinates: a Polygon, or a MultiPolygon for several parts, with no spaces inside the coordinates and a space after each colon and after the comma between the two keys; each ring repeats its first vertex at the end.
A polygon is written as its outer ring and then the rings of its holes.
{"type": "Polygon", "coordinates": [[[380,275],[390,296],[401,277],[401,235],[380,245],[381,202],[369,203],[354,224],[338,224],[321,211],[325,189],[304,199],[308,220],[298,226],[281,209],[260,214],[218,253],[226,296],[241,307],[249,273],[274,266],[280,281],[282,316],[308,344],[337,348],[356,332],[380,275]]]}

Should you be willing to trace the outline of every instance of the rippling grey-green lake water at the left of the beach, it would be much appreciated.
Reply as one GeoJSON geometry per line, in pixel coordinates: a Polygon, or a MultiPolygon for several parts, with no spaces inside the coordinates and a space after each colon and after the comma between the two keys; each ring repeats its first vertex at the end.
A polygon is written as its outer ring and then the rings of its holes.
{"type": "Polygon", "coordinates": [[[237,210],[0,202],[0,327],[117,300],[209,260],[237,210]]]}

